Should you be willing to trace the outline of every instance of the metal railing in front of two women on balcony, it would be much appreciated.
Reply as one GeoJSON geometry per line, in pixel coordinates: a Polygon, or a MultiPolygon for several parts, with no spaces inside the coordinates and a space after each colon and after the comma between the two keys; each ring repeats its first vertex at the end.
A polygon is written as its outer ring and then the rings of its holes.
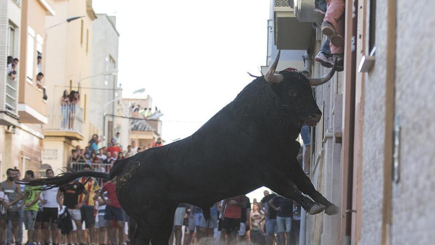
{"type": "Polygon", "coordinates": [[[62,103],[60,129],[82,134],[82,128],[83,109],[78,103],[62,103]]]}

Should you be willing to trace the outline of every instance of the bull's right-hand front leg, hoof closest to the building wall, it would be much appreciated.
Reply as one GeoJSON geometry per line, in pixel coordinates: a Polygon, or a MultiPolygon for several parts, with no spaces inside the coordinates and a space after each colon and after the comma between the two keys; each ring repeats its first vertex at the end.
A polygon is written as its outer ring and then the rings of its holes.
{"type": "Polygon", "coordinates": [[[306,195],[313,198],[314,201],[321,203],[326,207],[325,213],[328,215],[337,214],[339,208],[332,204],[322,194],[320,194],[313,186],[309,178],[305,175],[304,171],[300,167],[294,168],[294,171],[290,172],[290,179],[296,184],[299,190],[306,195]]]}

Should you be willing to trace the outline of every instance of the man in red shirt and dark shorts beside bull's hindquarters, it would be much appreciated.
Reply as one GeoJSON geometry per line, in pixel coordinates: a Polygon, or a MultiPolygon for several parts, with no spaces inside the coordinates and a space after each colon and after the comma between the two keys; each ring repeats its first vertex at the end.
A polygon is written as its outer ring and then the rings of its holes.
{"type": "Polygon", "coordinates": [[[116,196],[116,178],[113,178],[111,181],[104,184],[103,188],[98,193],[98,196],[100,196],[101,199],[103,199],[103,201],[106,203],[106,214],[104,216],[104,219],[107,220],[107,223],[109,225],[109,234],[115,234],[113,230],[113,220],[115,220],[118,224],[118,244],[123,244],[124,222],[126,221],[126,215],[121,207],[121,204],[118,201],[118,196],[116,196]],[[107,199],[103,196],[103,193],[105,192],[107,192],[107,199]]]}

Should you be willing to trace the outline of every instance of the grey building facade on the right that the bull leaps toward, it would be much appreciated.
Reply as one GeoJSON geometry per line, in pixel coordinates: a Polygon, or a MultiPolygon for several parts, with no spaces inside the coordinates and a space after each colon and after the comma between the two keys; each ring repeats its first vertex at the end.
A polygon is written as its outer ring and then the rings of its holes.
{"type": "MultiPolygon", "coordinates": [[[[309,165],[314,187],[341,211],[302,215],[300,244],[431,244],[433,3],[345,3],[344,71],[315,88],[323,116],[311,128],[309,165]]],[[[305,69],[320,77],[329,69],[313,62],[325,41],[323,15],[313,7],[309,0],[272,0],[269,43],[306,50],[305,69]],[[305,47],[291,37],[295,30],[312,33],[305,47]]],[[[272,52],[268,63],[274,58],[272,52]]]]}

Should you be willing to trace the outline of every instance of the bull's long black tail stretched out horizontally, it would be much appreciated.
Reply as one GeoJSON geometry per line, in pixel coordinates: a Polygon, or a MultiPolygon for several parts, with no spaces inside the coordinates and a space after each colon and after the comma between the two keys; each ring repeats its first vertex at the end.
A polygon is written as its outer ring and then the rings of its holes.
{"type": "Polygon", "coordinates": [[[79,177],[94,177],[105,180],[111,180],[118,176],[126,165],[126,159],[116,162],[110,169],[109,173],[94,172],[94,171],[79,171],[73,173],[61,173],[53,178],[42,178],[36,180],[22,180],[18,183],[29,186],[44,186],[41,190],[48,190],[57,186],[65,185],[79,177]]]}

